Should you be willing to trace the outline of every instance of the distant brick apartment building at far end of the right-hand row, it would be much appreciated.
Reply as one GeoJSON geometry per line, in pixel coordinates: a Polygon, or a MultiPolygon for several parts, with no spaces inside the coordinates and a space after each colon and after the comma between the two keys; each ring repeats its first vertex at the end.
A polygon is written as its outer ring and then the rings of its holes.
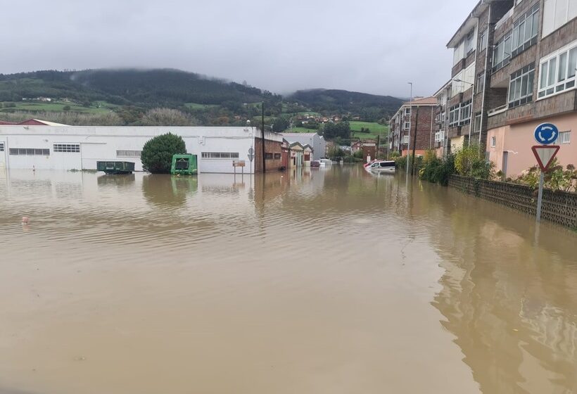
{"type": "Polygon", "coordinates": [[[415,155],[434,147],[437,98],[421,97],[402,104],[389,122],[389,149],[403,156],[410,149],[415,155]]]}

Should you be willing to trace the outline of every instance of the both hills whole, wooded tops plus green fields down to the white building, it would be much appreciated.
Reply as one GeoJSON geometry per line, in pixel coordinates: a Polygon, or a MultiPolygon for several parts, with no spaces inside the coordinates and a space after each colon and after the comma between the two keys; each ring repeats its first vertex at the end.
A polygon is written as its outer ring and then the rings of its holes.
{"type": "Polygon", "coordinates": [[[204,125],[236,125],[260,115],[260,101],[265,101],[265,115],[270,117],[319,113],[368,122],[383,122],[401,104],[391,96],[345,90],[313,89],[282,97],[246,82],[173,69],[0,74],[0,115],[13,114],[4,115],[5,120],[46,111],[113,111],[131,124],[152,108],[172,108],[194,115],[204,125]]]}

